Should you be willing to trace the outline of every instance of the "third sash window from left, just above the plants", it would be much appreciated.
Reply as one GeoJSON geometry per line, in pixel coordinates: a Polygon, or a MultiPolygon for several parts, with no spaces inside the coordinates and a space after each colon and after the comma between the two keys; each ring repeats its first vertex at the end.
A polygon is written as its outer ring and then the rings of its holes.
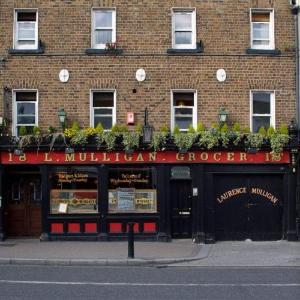
{"type": "Polygon", "coordinates": [[[189,126],[197,126],[197,93],[195,91],[173,91],[171,129],[178,126],[180,131],[187,131],[189,126]]]}

